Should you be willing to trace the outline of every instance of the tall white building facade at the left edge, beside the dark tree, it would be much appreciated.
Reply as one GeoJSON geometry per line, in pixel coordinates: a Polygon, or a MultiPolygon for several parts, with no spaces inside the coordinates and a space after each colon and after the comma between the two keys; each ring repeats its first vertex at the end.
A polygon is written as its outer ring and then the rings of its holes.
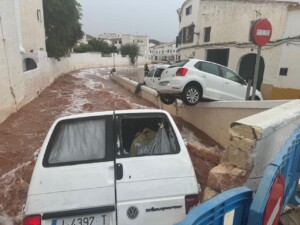
{"type": "Polygon", "coordinates": [[[39,67],[47,56],[43,5],[40,0],[0,1],[0,104],[1,117],[22,106],[25,73],[39,67]]]}

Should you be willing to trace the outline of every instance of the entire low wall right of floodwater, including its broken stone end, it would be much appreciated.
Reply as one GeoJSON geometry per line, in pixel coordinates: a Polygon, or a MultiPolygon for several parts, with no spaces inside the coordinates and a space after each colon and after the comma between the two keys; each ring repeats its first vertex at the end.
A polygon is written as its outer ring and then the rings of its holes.
{"type": "MultiPolygon", "coordinates": [[[[113,79],[131,92],[136,89],[135,81],[115,74],[113,79]]],[[[146,86],[140,96],[226,146],[221,164],[209,173],[204,199],[243,184],[256,190],[267,165],[300,126],[300,100],[164,105],[157,92],[146,86]]]]}

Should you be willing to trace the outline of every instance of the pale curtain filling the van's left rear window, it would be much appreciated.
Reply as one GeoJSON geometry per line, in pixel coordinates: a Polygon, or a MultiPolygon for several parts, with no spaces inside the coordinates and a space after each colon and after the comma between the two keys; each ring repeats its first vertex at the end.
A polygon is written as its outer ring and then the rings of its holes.
{"type": "Polygon", "coordinates": [[[55,136],[48,160],[50,164],[105,157],[104,119],[61,124],[55,136]]]}

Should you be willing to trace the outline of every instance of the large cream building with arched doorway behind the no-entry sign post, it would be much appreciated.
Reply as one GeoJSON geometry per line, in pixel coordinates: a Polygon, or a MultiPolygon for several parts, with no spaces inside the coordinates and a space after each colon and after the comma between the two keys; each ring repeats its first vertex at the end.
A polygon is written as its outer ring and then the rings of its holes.
{"type": "Polygon", "coordinates": [[[300,98],[299,0],[186,0],[178,15],[179,58],[217,62],[246,79],[253,77],[257,52],[251,25],[267,18],[273,32],[262,47],[258,88],[266,99],[300,98]]]}

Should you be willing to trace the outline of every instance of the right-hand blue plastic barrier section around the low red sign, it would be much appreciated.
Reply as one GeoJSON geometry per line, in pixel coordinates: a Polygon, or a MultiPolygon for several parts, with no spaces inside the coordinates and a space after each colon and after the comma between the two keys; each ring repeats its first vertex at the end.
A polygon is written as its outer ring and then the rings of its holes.
{"type": "Polygon", "coordinates": [[[266,168],[250,207],[248,224],[262,224],[267,201],[270,197],[274,181],[277,179],[278,175],[284,177],[284,198],[280,209],[284,209],[288,202],[293,203],[294,205],[300,204],[300,199],[297,197],[298,182],[300,178],[299,156],[300,128],[296,129],[288,138],[286,143],[276,154],[275,159],[266,168]]]}

